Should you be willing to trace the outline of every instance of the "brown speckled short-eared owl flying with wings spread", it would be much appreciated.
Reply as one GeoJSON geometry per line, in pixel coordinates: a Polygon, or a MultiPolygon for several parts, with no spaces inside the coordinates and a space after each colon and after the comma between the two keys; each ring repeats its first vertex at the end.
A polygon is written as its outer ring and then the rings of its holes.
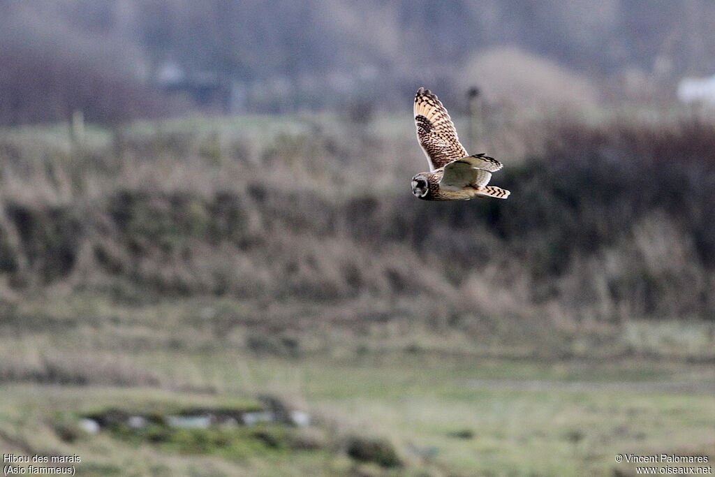
{"type": "Polygon", "coordinates": [[[491,173],[501,169],[501,162],[484,154],[467,154],[447,109],[429,89],[420,88],[415,96],[415,123],[430,172],[412,178],[414,195],[424,200],[509,197],[508,190],[487,185],[491,173]]]}

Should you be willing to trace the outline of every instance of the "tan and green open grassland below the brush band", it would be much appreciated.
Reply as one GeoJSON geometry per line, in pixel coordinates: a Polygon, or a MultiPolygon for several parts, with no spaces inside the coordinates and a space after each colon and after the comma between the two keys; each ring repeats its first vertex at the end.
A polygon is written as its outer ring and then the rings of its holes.
{"type": "Polygon", "coordinates": [[[0,340],[3,452],[77,455],[77,473],[88,476],[608,476],[635,471],[616,464],[616,453],[715,457],[710,362],[627,348],[612,358],[538,355],[537,343],[496,353],[456,345],[449,330],[420,342],[426,330],[400,320],[362,337],[319,326],[281,348],[251,340],[255,327],[217,335],[211,306],[127,308],[74,296],[14,309],[0,340]],[[400,334],[410,340],[390,338],[400,334]],[[261,395],[312,423],[260,427],[280,437],[270,445],[243,426],[215,431],[220,438],[187,431],[160,441],[78,428],[82,416],[108,409],[250,408],[261,395]],[[351,436],[388,441],[401,466],[350,458],[351,436]]]}

